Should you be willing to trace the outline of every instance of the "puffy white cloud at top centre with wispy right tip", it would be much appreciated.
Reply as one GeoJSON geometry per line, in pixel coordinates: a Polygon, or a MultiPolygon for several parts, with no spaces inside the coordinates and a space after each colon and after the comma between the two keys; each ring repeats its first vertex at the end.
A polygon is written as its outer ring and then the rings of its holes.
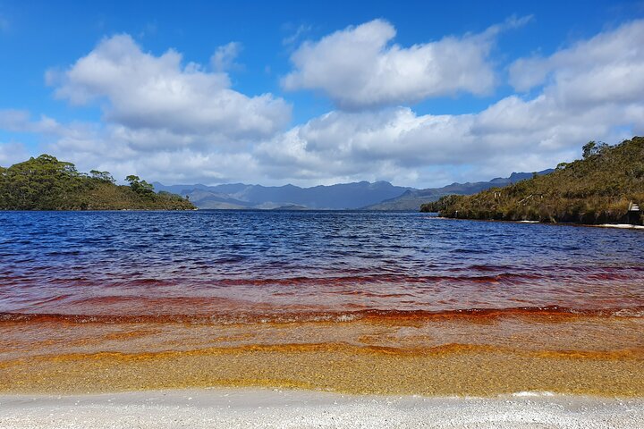
{"type": "Polygon", "coordinates": [[[288,90],[322,91],[351,110],[460,92],[484,95],[495,87],[488,56],[502,27],[402,47],[391,44],[392,24],[370,21],[302,44],[291,56],[294,70],[282,83],[288,90]]]}

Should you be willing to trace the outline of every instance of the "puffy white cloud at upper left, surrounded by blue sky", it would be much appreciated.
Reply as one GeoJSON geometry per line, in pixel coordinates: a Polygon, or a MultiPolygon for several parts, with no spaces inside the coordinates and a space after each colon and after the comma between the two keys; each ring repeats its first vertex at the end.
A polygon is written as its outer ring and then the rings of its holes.
{"type": "Polygon", "coordinates": [[[259,139],[282,130],[291,106],[270,94],[247,97],[230,88],[228,75],[182,55],[141,50],[128,35],[106,38],[62,73],[49,72],[56,97],[74,105],[105,100],[107,122],[131,129],[212,133],[223,139],[259,139]]]}

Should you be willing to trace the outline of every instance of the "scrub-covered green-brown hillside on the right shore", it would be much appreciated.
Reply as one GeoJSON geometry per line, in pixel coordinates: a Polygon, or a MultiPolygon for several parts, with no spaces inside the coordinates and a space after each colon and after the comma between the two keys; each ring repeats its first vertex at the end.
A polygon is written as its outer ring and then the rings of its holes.
{"type": "MultiPolygon", "coordinates": [[[[470,196],[449,195],[421,206],[445,217],[546,223],[642,223],[631,203],[644,206],[644,138],[616,146],[589,142],[583,159],[555,172],[470,196]]],[[[640,212],[641,213],[641,212],[640,212]]]]}

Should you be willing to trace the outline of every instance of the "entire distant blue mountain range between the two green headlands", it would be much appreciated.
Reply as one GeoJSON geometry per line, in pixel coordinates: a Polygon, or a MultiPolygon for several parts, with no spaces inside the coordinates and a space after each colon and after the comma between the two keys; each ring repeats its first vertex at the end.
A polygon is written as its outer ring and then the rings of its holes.
{"type": "MultiPolygon", "coordinates": [[[[552,170],[538,172],[545,174],[552,170]]],[[[155,190],[188,197],[204,209],[261,210],[411,210],[445,195],[470,195],[496,186],[530,179],[532,173],[513,172],[508,178],[475,183],[452,183],[442,188],[414,189],[387,181],[359,181],[301,188],[294,185],[262,186],[229,183],[216,186],[170,185],[154,182],[155,190]]]]}

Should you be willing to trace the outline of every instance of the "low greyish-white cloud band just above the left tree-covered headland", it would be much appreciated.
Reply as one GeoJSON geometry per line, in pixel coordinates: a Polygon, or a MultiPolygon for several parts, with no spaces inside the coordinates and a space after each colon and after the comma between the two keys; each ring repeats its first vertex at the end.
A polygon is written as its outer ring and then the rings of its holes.
{"type": "MultiPolygon", "coordinates": [[[[191,146],[164,130],[131,130],[122,125],[99,126],[92,122],[59,123],[51,118],[33,119],[23,111],[0,111],[0,129],[32,132],[40,136],[40,152],[76,164],[80,171],[112,172],[123,181],[128,174],[166,182],[220,182],[243,171],[255,174],[248,152],[191,146]]],[[[23,161],[30,153],[24,145],[0,142],[0,165],[23,161]]]]}

